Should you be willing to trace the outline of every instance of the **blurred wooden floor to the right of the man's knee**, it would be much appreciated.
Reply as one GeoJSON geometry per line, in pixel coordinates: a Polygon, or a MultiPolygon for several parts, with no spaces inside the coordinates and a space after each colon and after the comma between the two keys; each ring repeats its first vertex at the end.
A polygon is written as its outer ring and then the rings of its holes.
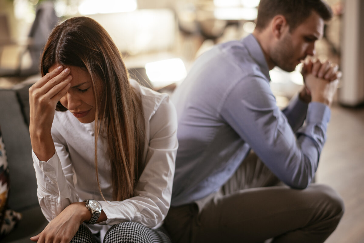
{"type": "Polygon", "coordinates": [[[326,243],[364,243],[364,107],[332,107],[316,182],[344,199],[345,213],[326,243]]]}

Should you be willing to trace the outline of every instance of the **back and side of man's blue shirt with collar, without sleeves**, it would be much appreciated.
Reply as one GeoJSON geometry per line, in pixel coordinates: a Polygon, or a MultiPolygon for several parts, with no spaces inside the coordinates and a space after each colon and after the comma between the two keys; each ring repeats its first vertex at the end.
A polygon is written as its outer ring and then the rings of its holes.
{"type": "MultiPolygon", "coordinates": [[[[222,110],[237,88],[247,90],[241,95],[260,95],[254,94],[256,81],[274,99],[269,80],[264,55],[252,35],[220,44],[197,59],[172,97],[179,141],[172,205],[209,195],[234,173],[250,147],[222,110]]],[[[242,111],[236,107],[236,112],[242,111]]]]}

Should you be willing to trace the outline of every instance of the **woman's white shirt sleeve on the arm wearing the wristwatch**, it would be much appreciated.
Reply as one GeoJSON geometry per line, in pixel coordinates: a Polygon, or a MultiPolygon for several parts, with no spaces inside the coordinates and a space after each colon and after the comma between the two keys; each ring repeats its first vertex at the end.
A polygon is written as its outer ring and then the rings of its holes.
{"type": "Polygon", "coordinates": [[[146,165],[135,188],[137,196],[123,201],[100,201],[107,216],[103,223],[133,221],[155,228],[165,219],[170,207],[178,148],[177,115],[168,98],[151,117],[149,133],[146,165]]]}

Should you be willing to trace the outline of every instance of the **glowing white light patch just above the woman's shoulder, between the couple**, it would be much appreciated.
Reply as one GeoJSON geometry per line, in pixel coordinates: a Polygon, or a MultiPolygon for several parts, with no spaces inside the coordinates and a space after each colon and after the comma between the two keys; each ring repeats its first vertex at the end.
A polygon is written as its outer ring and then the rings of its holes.
{"type": "Polygon", "coordinates": [[[187,75],[185,64],[179,58],[147,63],[145,70],[150,81],[155,83],[178,82],[187,75]]]}

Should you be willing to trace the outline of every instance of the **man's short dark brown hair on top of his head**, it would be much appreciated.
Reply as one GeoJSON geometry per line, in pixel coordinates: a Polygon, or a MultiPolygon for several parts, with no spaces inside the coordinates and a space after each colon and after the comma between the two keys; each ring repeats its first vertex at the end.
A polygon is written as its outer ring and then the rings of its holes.
{"type": "Polygon", "coordinates": [[[332,18],[332,9],[325,0],[261,0],[256,21],[257,30],[264,30],[276,15],[283,15],[293,31],[315,11],[324,21],[332,18]]]}

